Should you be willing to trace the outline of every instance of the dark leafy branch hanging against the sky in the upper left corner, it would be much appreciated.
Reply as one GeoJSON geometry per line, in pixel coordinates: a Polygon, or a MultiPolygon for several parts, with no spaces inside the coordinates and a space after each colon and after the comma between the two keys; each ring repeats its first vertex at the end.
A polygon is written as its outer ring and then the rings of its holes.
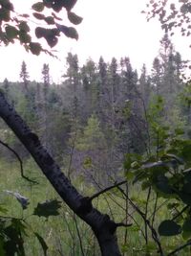
{"type": "MultiPolygon", "coordinates": [[[[32,15],[30,13],[18,13],[14,11],[14,5],[11,0],[0,0],[0,45],[9,45],[18,40],[33,55],[39,55],[41,52],[53,53],[44,49],[39,43],[40,38],[44,38],[47,44],[53,48],[61,34],[74,39],[78,39],[77,31],[74,27],[68,27],[63,24],[63,19],[57,13],[66,11],[69,21],[73,25],[78,25],[82,21],[82,17],[72,12],[76,0],[42,0],[32,5],[32,15]],[[49,13],[47,15],[47,13],[49,13]],[[35,26],[34,34],[38,39],[37,42],[32,38],[33,24],[41,23],[35,26]]],[[[16,4],[15,4],[16,5],[16,4]]]]}

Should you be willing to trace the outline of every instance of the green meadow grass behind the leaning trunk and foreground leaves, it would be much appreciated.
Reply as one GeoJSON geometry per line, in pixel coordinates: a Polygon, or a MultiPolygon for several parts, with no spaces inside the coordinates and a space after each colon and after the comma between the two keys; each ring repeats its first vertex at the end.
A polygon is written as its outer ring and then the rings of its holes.
{"type": "MultiPolygon", "coordinates": [[[[32,215],[33,209],[36,207],[38,202],[43,202],[46,199],[53,198],[60,200],[60,198],[56,195],[49,181],[41,174],[32,160],[25,162],[24,170],[26,175],[38,181],[39,184],[33,185],[21,178],[19,164],[17,162],[0,161],[0,203],[7,206],[9,210],[7,216],[24,218],[29,224],[29,228],[27,229],[27,234],[25,236],[26,255],[43,255],[41,245],[33,236],[32,232],[37,232],[44,238],[49,246],[48,255],[50,256],[100,255],[100,251],[91,228],[74,216],[74,213],[66,206],[66,204],[62,203],[59,216],[50,217],[48,220],[43,217],[38,218],[32,215]],[[22,210],[18,201],[11,195],[6,194],[5,190],[18,192],[26,198],[30,198],[30,205],[28,209],[22,210]],[[80,236],[77,234],[77,230],[79,230],[80,236]],[[80,240],[82,247],[80,246],[80,240]]],[[[95,188],[91,185],[87,186],[81,177],[75,178],[73,182],[83,195],[91,196],[96,192],[95,188]]],[[[143,211],[145,209],[147,193],[142,192],[140,186],[137,184],[136,186],[131,186],[129,188],[129,194],[130,198],[134,198],[134,202],[143,211]]],[[[151,195],[148,207],[148,217],[153,212],[154,202],[155,197],[154,195],[151,195]]],[[[159,198],[159,204],[162,202],[163,199],[159,198]]],[[[145,240],[142,235],[142,231],[144,232],[145,228],[144,221],[135,209],[127,203],[126,198],[124,198],[117,189],[94,199],[94,205],[102,213],[108,214],[114,221],[127,221],[128,223],[133,223],[133,225],[128,228],[117,228],[117,239],[124,256],[159,255],[157,253],[157,246],[152,239],[150,231],[148,231],[148,244],[145,245],[145,240]],[[136,221],[136,223],[134,221],[136,221]],[[148,251],[147,254],[146,251],[148,251]]],[[[159,208],[157,218],[155,220],[155,227],[158,227],[160,221],[170,218],[172,217],[170,216],[169,211],[166,210],[166,207],[159,208]]],[[[167,252],[173,250],[176,246],[185,243],[185,241],[181,239],[181,236],[171,238],[163,237],[160,238],[160,243],[167,254],[167,252]]],[[[184,256],[189,255],[190,253],[190,248],[186,247],[177,255],[184,256]]]]}

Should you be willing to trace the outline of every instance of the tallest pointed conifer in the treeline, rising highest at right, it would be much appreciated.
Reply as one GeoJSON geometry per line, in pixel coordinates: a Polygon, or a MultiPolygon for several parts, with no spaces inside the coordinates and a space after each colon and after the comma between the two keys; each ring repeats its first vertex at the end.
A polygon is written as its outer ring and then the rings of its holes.
{"type": "Polygon", "coordinates": [[[171,128],[183,122],[178,100],[182,87],[181,65],[180,54],[175,51],[168,34],[165,34],[160,40],[159,57],[154,60],[152,81],[158,95],[164,99],[163,122],[171,128]]]}

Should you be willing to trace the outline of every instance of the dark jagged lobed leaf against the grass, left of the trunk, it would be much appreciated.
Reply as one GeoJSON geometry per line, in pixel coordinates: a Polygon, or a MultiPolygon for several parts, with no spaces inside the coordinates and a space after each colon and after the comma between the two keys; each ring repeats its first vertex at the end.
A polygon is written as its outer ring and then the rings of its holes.
{"type": "Polygon", "coordinates": [[[59,215],[58,209],[61,207],[61,202],[54,200],[46,200],[45,202],[39,202],[37,207],[34,208],[33,215],[37,215],[38,217],[46,217],[57,216],[59,215]]]}

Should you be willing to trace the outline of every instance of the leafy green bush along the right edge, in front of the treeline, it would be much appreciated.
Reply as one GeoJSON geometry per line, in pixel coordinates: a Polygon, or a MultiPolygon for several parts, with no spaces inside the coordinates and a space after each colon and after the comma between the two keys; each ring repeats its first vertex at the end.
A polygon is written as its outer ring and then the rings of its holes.
{"type": "Polygon", "coordinates": [[[191,140],[179,126],[162,125],[162,105],[158,97],[157,104],[148,111],[153,147],[143,155],[127,153],[124,169],[129,185],[141,186],[147,195],[143,210],[129,200],[145,221],[144,236],[147,238],[150,230],[160,255],[165,254],[158,234],[161,238],[182,237],[180,247],[171,252],[165,248],[167,255],[173,255],[191,245],[191,140]],[[151,113],[155,113],[152,118],[151,113]],[[159,214],[161,208],[165,208],[166,216],[159,214]]]}

